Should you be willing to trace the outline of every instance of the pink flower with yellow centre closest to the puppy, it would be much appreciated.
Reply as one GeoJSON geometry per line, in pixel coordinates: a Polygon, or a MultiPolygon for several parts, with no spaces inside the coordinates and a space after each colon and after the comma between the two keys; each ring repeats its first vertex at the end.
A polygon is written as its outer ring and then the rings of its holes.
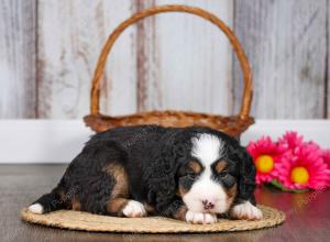
{"type": "Polygon", "coordinates": [[[263,136],[256,142],[250,142],[246,150],[256,167],[256,184],[268,183],[277,177],[278,166],[286,154],[283,145],[274,143],[270,136],[263,136]]]}

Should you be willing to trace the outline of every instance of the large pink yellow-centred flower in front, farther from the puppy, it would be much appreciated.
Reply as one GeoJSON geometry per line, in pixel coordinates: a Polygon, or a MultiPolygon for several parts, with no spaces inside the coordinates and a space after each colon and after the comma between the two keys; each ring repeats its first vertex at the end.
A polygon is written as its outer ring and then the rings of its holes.
{"type": "Polygon", "coordinates": [[[330,169],[312,142],[294,147],[277,168],[278,180],[288,189],[323,189],[329,184],[330,169]]]}

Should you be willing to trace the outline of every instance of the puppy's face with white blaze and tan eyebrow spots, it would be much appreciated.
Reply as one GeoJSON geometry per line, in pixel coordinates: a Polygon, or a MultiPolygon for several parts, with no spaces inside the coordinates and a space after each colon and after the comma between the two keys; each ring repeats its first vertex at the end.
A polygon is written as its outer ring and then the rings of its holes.
{"type": "Polygon", "coordinates": [[[177,170],[177,194],[189,210],[227,212],[239,194],[246,190],[246,180],[254,184],[254,173],[246,174],[246,167],[242,167],[246,158],[242,147],[230,139],[211,133],[191,139],[190,154],[177,170]]]}

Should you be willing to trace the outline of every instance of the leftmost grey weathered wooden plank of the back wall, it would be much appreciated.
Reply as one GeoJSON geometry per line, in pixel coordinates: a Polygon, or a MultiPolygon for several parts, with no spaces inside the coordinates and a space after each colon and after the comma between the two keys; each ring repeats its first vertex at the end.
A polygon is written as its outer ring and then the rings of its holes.
{"type": "Polygon", "coordinates": [[[36,0],[0,1],[0,118],[34,118],[36,0]]]}

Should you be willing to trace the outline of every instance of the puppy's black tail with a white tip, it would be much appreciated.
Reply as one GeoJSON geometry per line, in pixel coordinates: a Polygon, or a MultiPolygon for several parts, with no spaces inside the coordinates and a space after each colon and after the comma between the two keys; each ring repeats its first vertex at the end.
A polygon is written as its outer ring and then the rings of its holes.
{"type": "Polygon", "coordinates": [[[62,198],[58,187],[56,187],[50,194],[45,194],[34,201],[29,207],[29,211],[36,215],[42,215],[65,209],[66,207],[66,201],[62,198]]]}

